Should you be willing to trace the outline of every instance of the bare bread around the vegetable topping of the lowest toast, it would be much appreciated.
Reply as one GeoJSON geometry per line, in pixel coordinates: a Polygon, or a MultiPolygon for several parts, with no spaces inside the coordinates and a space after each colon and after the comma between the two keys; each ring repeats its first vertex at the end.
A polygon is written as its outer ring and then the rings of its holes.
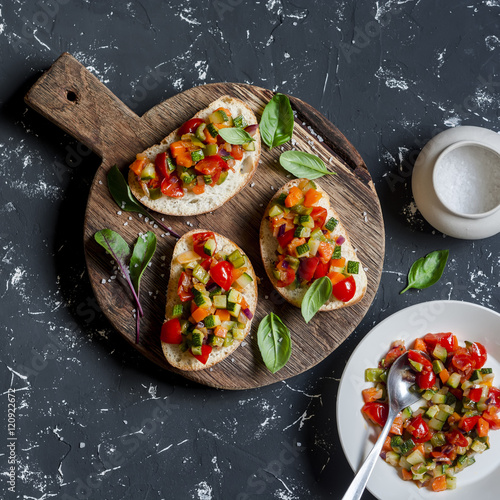
{"type": "MultiPolygon", "coordinates": [[[[187,252],[188,250],[192,250],[193,234],[204,231],[208,230],[196,229],[195,231],[189,231],[188,233],[184,234],[175,245],[174,253],[172,255],[172,263],[170,265],[170,280],[168,282],[167,305],[165,307],[166,319],[169,319],[171,317],[174,305],[181,303],[177,295],[177,285],[182,273],[182,265],[177,262],[177,256],[184,252],[187,252]]],[[[218,252],[227,254],[234,252],[234,250],[239,250],[242,255],[246,255],[245,252],[243,252],[243,250],[238,245],[236,245],[236,243],[233,243],[230,239],[218,233],[214,233],[214,235],[218,252]]],[[[250,259],[248,259],[248,262],[249,267],[247,273],[253,278],[253,282],[248,285],[242,293],[245,297],[245,300],[248,302],[250,311],[252,311],[252,314],[255,315],[255,310],[257,308],[257,276],[255,275],[255,271],[250,262],[250,259]]],[[[251,326],[252,321],[249,320],[244,330],[245,338],[248,335],[251,326]]],[[[162,349],[167,361],[179,370],[206,370],[207,368],[210,368],[211,366],[214,366],[217,363],[220,363],[223,359],[227,358],[239,347],[243,340],[234,340],[233,344],[228,347],[214,348],[205,365],[200,363],[190,352],[181,352],[179,345],[167,344],[165,342],[162,342],[162,349]]]]}

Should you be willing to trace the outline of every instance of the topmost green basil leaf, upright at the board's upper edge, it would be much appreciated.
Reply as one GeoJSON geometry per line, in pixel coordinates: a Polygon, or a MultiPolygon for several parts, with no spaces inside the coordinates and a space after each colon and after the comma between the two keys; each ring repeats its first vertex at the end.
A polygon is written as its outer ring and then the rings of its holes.
{"type": "Polygon", "coordinates": [[[267,103],[260,120],[262,140],[272,149],[288,142],[293,135],[293,111],[286,95],[276,94],[267,103]]]}

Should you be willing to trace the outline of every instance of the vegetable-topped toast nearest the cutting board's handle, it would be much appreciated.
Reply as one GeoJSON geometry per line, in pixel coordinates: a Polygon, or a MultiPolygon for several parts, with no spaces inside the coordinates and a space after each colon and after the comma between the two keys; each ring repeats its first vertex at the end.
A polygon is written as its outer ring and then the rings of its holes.
{"type": "Polygon", "coordinates": [[[128,182],[134,196],[156,212],[202,214],[237,194],[252,178],[259,157],[257,118],[243,101],[224,96],[138,154],[128,182]],[[231,131],[232,144],[220,134],[229,128],[239,129],[231,131]],[[248,136],[251,140],[242,144],[248,136]]]}

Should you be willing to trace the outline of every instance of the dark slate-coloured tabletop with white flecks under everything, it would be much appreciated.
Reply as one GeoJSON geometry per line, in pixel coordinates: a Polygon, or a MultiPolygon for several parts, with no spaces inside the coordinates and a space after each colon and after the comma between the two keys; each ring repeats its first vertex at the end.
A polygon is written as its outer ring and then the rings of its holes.
{"type": "Polygon", "coordinates": [[[16,494],[4,440],[0,496],[340,499],[352,473],[336,392],[358,342],[426,300],[500,309],[499,238],[434,232],[408,182],[437,132],[500,130],[500,0],[27,4],[0,2],[0,418],[5,429],[13,388],[18,437],[16,494]],[[139,114],[194,85],[245,82],[307,101],[347,136],[381,199],[386,258],[375,302],[339,349],[286,383],[223,392],[152,366],[110,330],[81,244],[99,158],[23,103],[63,51],[139,114]],[[450,249],[439,284],[400,296],[415,258],[439,248],[450,249]]]}

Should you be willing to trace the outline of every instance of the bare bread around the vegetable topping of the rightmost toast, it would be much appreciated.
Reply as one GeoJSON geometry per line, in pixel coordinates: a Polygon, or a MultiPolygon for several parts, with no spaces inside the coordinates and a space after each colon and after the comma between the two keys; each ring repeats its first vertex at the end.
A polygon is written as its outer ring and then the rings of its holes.
{"type": "MultiPolygon", "coordinates": [[[[289,290],[287,288],[278,287],[278,280],[273,275],[274,262],[276,261],[277,254],[276,249],[278,248],[278,241],[273,236],[273,233],[269,227],[269,221],[267,218],[267,214],[269,213],[269,209],[272,206],[272,201],[277,198],[281,193],[288,192],[292,186],[298,186],[304,179],[294,179],[290,182],[287,182],[276,194],[273,196],[271,201],[269,202],[266,211],[264,212],[264,218],[262,219],[262,223],[260,225],[260,252],[262,255],[262,260],[264,262],[264,267],[266,269],[266,273],[271,280],[276,291],[290,304],[293,304],[296,307],[300,307],[302,304],[302,299],[307,291],[307,287],[296,288],[295,290],[289,290]]],[[[327,220],[330,217],[335,217],[339,224],[335,228],[333,235],[334,237],[343,236],[345,238],[345,242],[342,244],[342,257],[345,257],[346,260],[357,260],[359,258],[354,251],[354,248],[349,241],[349,237],[342,223],[340,222],[339,216],[330,206],[330,197],[328,194],[318,185],[315,181],[317,190],[320,191],[323,196],[321,200],[318,202],[318,206],[326,208],[328,211],[327,220]]],[[[330,300],[326,302],[323,306],[321,306],[320,311],[333,311],[334,309],[340,309],[342,307],[352,306],[359,302],[366,293],[367,286],[367,278],[366,273],[363,269],[363,265],[360,263],[359,265],[359,274],[353,274],[354,280],[356,282],[356,293],[354,297],[349,302],[342,302],[337,300],[333,295],[330,297],[330,300]]]]}

